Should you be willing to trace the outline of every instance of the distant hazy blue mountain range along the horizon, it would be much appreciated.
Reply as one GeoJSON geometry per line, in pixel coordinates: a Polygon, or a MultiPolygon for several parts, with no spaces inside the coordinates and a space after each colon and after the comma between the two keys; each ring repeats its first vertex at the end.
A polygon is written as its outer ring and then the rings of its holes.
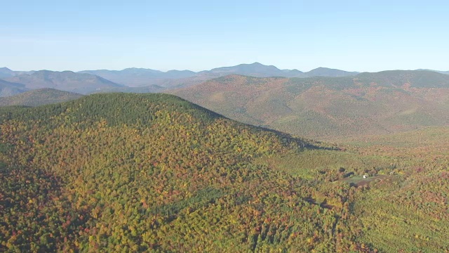
{"type": "MultiPolygon", "coordinates": [[[[433,70],[432,70],[433,71],[433,70]]],[[[439,71],[443,74],[449,72],[439,71]]],[[[7,82],[25,84],[27,89],[53,88],[76,93],[93,92],[161,92],[168,89],[180,89],[201,84],[207,80],[239,74],[251,77],[350,77],[358,72],[318,67],[309,72],[300,70],[280,70],[273,65],[261,63],[240,64],[231,67],[217,67],[212,70],[193,72],[190,70],[170,70],[162,72],[144,68],[124,70],[84,70],[80,72],[13,71],[0,68],[0,79],[7,82]],[[90,74],[90,75],[89,75],[90,74]],[[98,78],[101,77],[101,78],[98,78]],[[133,89],[138,87],[139,89],[133,89]],[[145,87],[145,88],[141,88],[145,87]]],[[[4,83],[5,84],[5,83],[4,83]]],[[[6,85],[6,84],[5,84],[6,85]]],[[[9,91],[0,96],[23,92],[9,86],[9,91]]]]}

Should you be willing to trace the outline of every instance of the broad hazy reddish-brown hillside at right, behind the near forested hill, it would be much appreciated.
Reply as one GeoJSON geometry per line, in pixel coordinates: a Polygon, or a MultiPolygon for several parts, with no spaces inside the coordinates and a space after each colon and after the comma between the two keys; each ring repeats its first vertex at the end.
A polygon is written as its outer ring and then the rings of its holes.
{"type": "Polygon", "coordinates": [[[429,71],[292,79],[230,75],[168,92],[241,122],[313,138],[449,124],[449,76],[429,71]]]}

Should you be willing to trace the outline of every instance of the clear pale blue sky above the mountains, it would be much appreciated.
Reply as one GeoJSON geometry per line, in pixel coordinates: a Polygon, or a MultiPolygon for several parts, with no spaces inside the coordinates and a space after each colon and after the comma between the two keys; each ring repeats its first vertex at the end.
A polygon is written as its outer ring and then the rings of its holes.
{"type": "Polygon", "coordinates": [[[2,1],[0,67],[449,70],[446,1],[2,1]]]}

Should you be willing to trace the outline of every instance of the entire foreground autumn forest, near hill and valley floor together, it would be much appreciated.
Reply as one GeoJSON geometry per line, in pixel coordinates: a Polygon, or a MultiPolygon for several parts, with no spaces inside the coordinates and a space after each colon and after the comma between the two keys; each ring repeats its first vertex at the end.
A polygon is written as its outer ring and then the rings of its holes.
{"type": "Polygon", "coordinates": [[[0,251],[449,249],[438,153],[337,150],[166,94],[0,108],[0,131],[0,251]]]}

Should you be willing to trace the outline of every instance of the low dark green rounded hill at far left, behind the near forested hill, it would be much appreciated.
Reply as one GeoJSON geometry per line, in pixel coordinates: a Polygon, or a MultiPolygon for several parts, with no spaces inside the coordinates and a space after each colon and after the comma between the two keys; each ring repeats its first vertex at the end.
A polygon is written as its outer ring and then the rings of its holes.
{"type": "Polygon", "coordinates": [[[24,105],[24,106],[38,106],[47,105],[51,103],[67,102],[76,98],[81,98],[81,94],[67,91],[59,91],[56,89],[35,89],[17,94],[15,96],[8,96],[0,98],[0,106],[8,105],[24,105]]]}

